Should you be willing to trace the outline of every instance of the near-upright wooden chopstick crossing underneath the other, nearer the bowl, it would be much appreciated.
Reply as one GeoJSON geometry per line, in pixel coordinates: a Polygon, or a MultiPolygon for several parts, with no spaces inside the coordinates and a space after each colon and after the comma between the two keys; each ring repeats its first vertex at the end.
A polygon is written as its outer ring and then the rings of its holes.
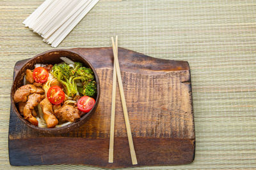
{"type": "MultiPolygon", "coordinates": [[[[118,52],[117,36],[116,36],[116,53],[118,52]]],[[[110,137],[109,137],[109,153],[108,162],[113,163],[114,153],[114,134],[115,134],[115,106],[116,106],[116,66],[113,64],[113,87],[112,87],[112,106],[111,106],[111,120],[110,120],[110,137]]]]}

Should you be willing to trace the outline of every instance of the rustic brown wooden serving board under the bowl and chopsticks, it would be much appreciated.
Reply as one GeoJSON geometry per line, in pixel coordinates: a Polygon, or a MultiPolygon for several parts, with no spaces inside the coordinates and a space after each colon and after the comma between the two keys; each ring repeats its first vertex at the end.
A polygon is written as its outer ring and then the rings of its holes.
{"type": "MultiPolygon", "coordinates": [[[[92,117],[67,134],[40,134],[10,111],[9,157],[13,166],[84,164],[132,166],[118,87],[114,163],[108,163],[113,52],[110,48],[73,48],[95,67],[100,79],[99,106],[92,117]]],[[[195,128],[189,64],[118,48],[136,166],[189,164],[195,157],[195,128]]],[[[16,63],[17,70],[25,60],[16,63]]],[[[11,107],[12,108],[12,107],[11,107]]]]}

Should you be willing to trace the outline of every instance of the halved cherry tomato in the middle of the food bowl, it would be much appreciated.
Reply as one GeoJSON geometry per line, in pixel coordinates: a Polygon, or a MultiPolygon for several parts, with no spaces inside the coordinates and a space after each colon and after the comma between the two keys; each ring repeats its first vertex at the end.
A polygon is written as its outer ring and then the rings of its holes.
{"type": "Polygon", "coordinates": [[[65,99],[65,93],[58,85],[54,85],[48,90],[47,97],[52,104],[61,104],[65,99]]]}

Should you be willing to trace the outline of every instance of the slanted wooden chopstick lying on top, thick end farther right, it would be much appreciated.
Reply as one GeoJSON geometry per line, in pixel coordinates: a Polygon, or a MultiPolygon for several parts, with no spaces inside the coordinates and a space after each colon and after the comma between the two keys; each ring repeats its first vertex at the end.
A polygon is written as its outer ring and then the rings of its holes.
{"type": "Polygon", "coordinates": [[[132,141],[131,127],[130,127],[128,111],[127,111],[127,106],[126,106],[126,101],[125,101],[125,96],[124,96],[124,87],[123,87],[120,67],[119,67],[119,63],[118,63],[118,53],[116,50],[117,48],[115,46],[113,37],[111,38],[111,40],[112,40],[112,45],[113,45],[113,54],[114,54],[114,62],[115,62],[115,67],[116,67],[116,75],[117,75],[120,96],[121,96],[121,101],[122,101],[122,106],[123,106],[123,111],[124,111],[124,120],[125,120],[125,126],[126,126],[126,131],[127,131],[127,137],[128,137],[128,141],[129,141],[132,165],[136,165],[136,164],[138,164],[138,162],[137,162],[136,153],[135,153],[134,145],[133,145],[133,141],[132,141]]]}

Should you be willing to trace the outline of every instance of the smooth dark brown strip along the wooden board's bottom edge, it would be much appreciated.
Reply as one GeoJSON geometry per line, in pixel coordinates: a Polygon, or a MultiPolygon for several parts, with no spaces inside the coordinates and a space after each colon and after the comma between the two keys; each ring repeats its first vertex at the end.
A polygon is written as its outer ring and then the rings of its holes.
{"type": "Polygon", "coordinates": [[[139,164],[132,166],[127,138],[115,138],[116,149],[114,150],[113,164],[108,163],[108,138],[13,139],[9,145],[12,148],[10,164],[12,166],[30,166],[31,162],[34,166],[85,164],[86,166],[105,168],[190,164],[194,159],[194,142],[193,139],[179,138],[134,138],[139,164]],[[32,145],[35,143],[37,145],[32,145]],[[54,148],[54,152],[49,152],[49,149],[45,150],[49,145],[54,148]],[[24,150],[22,147],[29,148],[29,150],[24,150]],[[81,155],[84,156],[81,157],[81,155]],[[95,157],[99,159],[95,159],[95,157]]]}

